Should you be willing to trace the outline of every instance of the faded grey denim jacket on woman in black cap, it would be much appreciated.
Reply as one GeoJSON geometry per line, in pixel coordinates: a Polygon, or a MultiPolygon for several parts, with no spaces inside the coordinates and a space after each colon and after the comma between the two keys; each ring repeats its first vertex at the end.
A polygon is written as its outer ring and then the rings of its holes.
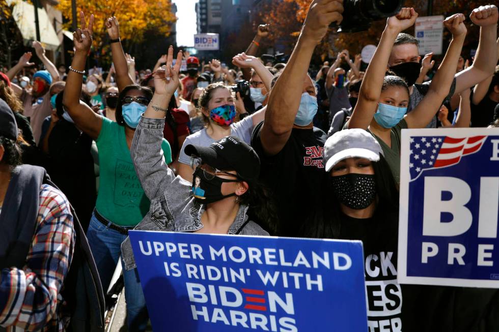
{"type": "MultiPolygon", "coordinates": [[[[192,184],[173,171],[164,162],[161,150],[163,119],[142,117],[130,147],[135,171],[146,196],[151,200],[149,213],[135,230],[193,232],[203,228],[201,216],[206,206],[192,196],[192,184]]],[[[228,234],[268,235],[260,226],[248,221],[248,206],[241,205],[228,234]]],[[[121,245],[126,269],[136,267],[130,238],[121,245]]]]}

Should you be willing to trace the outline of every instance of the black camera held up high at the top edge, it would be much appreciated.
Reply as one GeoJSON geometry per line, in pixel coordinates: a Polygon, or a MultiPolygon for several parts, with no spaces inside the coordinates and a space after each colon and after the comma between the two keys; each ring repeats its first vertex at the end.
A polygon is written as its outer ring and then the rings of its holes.
{"type": "Polygon", "coordinates": [[[338,32],[366,31],[373,21],[397,14],[404,0],[345,0],[338,32]]]}

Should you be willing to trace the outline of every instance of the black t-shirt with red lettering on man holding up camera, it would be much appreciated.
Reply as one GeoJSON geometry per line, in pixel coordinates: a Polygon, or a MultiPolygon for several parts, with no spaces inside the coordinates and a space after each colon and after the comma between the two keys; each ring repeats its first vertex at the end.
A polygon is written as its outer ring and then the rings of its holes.
{"type": "Polygon", "coordinates": [[[322,158],[327,136],[318,128],[293,128],[283,149],[267,156],[260,140],[262,126],[263,122],[253,130],[251,145],[260,157],[260,180],[278,208],[278,231],[273,235],[301,236],[303,221],[313,215],[324,193],[322,158]]]}

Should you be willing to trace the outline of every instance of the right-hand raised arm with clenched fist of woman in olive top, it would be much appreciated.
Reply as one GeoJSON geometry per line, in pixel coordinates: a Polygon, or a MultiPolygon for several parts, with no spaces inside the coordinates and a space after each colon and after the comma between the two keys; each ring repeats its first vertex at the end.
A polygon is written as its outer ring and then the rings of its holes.
{"type": "Polygon", "coordinates": [[[405,116],[408,128],[424,128],[438,111],[438,107],[449,95],[461,49],[466,38],[466,25],[463,14],[454,14],[443,21],[452,33],[452,40],[447,53],[431,80],[428,93],[414,110],[405,116]]]}

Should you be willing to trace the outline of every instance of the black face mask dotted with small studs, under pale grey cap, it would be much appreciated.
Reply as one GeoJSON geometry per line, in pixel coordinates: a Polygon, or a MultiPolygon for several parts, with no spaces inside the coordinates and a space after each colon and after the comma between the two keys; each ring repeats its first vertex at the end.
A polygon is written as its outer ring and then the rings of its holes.
{"type": "Polygon", "coordinates": [[[376,198],[376,183],[372,174],[332,176],[331,182],[336,197],[349,208],[362,210],[376,198]]]}

